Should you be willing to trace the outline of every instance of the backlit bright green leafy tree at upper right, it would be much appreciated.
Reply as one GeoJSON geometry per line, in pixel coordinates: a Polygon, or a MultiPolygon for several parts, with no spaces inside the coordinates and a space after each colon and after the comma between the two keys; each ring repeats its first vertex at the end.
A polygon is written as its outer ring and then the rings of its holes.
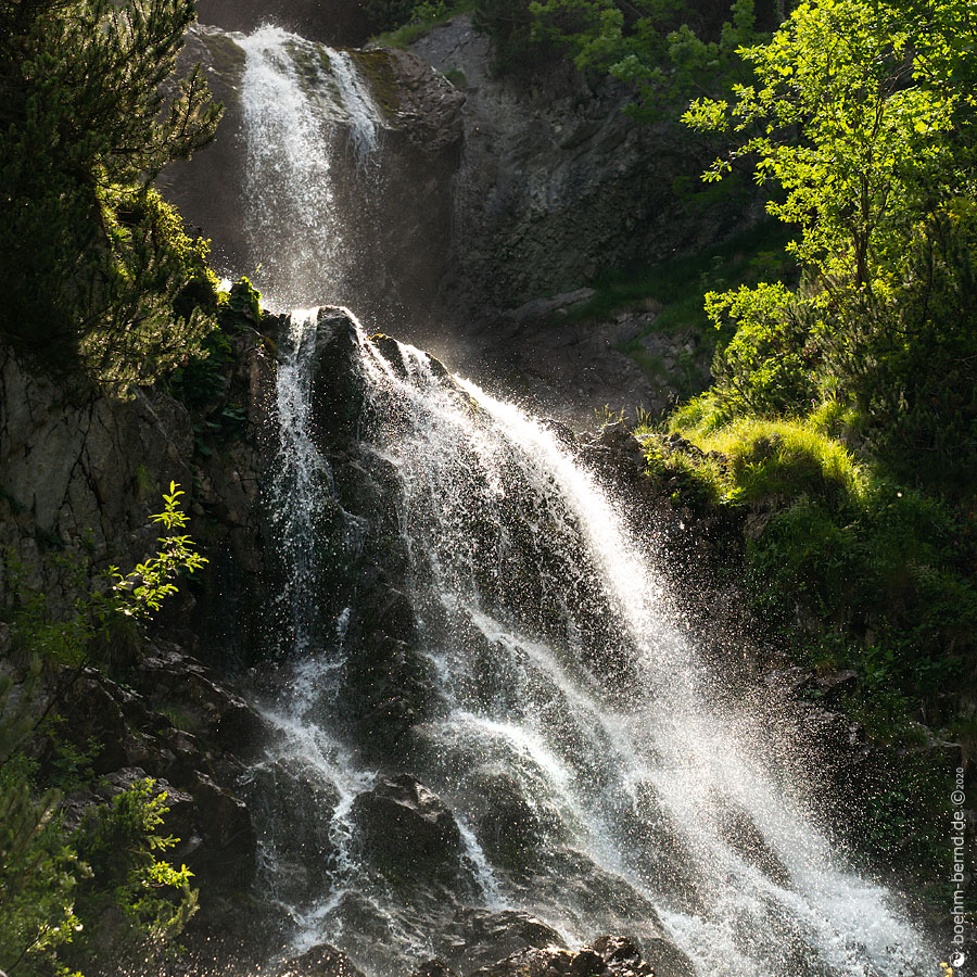
{"type": "Polygon", "coordinates": [[[798,377],[763,409],[802,413],[810,403],[789,392],[816,373],[823,396],[857,405],[898,471],[957,485],[977,474],[967,447],[977,435],[977,97],[966,56],[977,25],[966,8],[803,2],[770,43],[740,49],[752,84],[684,116],[738,137],[706,178],[752,157],[758,181],[778,194],[770,212],[798,228],[788,250],[804,268],[800,293],[781,303],[795,325],[782,318],[777,342],[770,287],[707,296],[714,321],[740,330],[719,393],[750,386],[776,358],[798,377]],[[921,469],[921,454],[935,464],[921,469]]]}

